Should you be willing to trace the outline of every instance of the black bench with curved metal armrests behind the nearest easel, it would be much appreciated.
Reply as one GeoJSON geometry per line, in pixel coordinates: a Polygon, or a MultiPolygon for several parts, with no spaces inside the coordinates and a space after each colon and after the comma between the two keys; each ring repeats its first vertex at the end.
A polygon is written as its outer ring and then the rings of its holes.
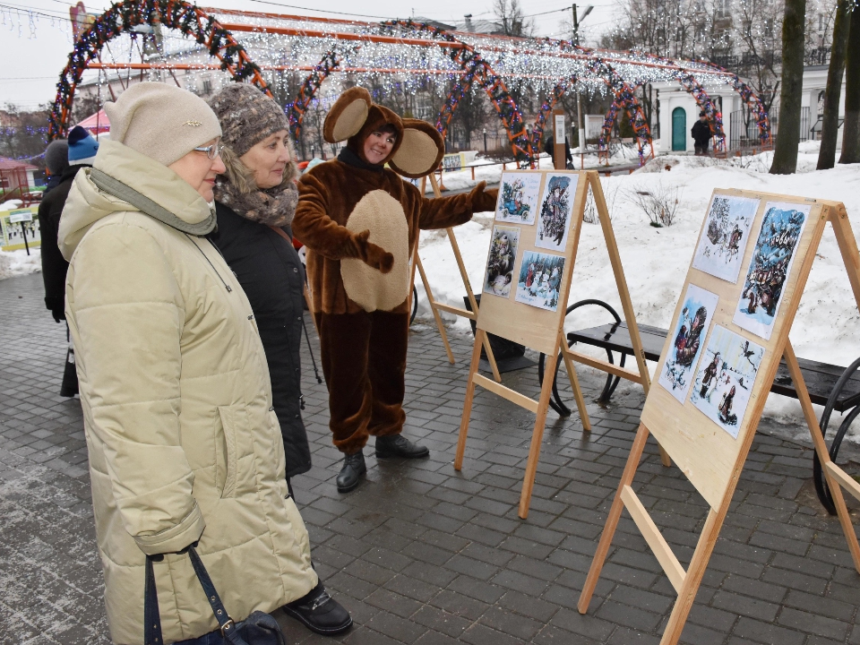
{"type": "MultiPolygon", "coordinates": [[[[633,348],[630,340],[630,332],[627,330],[627,324],[621,320],[621,317],[615,312],[610,305],[607,305],[601,300],[582,300],[567,308],[567,314],[573,310],[585,305],[598,305],[606,309],[609,314],[615,318],[615,323],[607,323],[598,325],[597,327],[589,327],[589,329],[571,331],[567,334],[568,346],[572,347],[576,343],[583,345],[591,345],[593,347],[606,349],[606,356],[610,363],[614,363],[614,352],[620,354],[619,366],[624,366],[624,362],[628,356],[632,356],[633,348]]],[[[642,349],[645,351],[645,357],[650,361],[659,360],[660,354],[663,351],[663,346],[666,344],[668,330],[660,327],[651,327],[650,325],[639,325],[639,334],[642,340],[642,349]]],[[[561,396],[558,393],[558,361],[555,368],[555,381],[553,383],[553,400],[550,405],[560,415],[569,416],[571,410],[564,404],[561,396]]],[[[845,415],[839,430],[834,435],[830,445],[830,459],[836,460],[839,453],[839,445],[842,443],[842,438],[845,436],[848,426],[854,422],[856,417],[860,415],[860,359],[857,359],[851,366],[840,367],[820,363],[818,361],[808,360],[806,358],[797,358],[797,364],[800,366],[800,371],[804,375],[806,389],[809,391],[809,398],[818,405],[824,406],[824,413],[821,415],[821,434],[826,434],[827,426],[830,421],[830,413],[832,410],[838,412],[848,412],[845,415]]],[[[538,362],[538,380],[543,382],[544,373],[544,356],[541,355],[538,362]]],[[[606,385],[598,398],[599,402],[606,403],[612,397],[615,387],[618,385],[620,377],[609,374],[606,377],[606,385]]],[[[783,396],[797,398],[795,385],[791,380],[791,374],[788,373],[788,366],[783,359],[779,363],[777,375],[770,386],[770,391],[783,396]]],[[[818,492],[819,499],[824,507],[831,514],[836,514],[836,509],[830,498],[830,490],[827,488],[827,483],[821,473],[821,464],[818,457],[814,457],[813,473],[815,479],[815,488],[818,492]]]]}

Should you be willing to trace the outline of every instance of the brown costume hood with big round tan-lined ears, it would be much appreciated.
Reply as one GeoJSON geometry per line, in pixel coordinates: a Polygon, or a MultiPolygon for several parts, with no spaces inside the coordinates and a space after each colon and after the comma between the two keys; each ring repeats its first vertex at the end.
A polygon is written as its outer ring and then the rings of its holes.
{"type": "Polygon", "coordinates": [[[397,131],[391,155],[383,163],[399,175],[417,179],[433,172],[445,154],[442,135],[420,119],[400,118],[387,107],[376,105],[365,88],[354,87],[340,95],[323,124],[323,138],[329,143],[347,142],[362,156],[366,138],[386,124],[397,131]]]}

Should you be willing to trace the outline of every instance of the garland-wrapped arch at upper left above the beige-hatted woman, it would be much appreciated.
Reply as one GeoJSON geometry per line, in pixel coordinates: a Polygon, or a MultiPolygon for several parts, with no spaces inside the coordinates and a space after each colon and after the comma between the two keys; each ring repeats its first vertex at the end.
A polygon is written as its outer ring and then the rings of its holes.
{"type": "Polygon", "coordinates": [[[221,61],[221,69],[236,81],[250,81],[271,96],[254,64],[233,35],[210,15],[183,0],[126,0],[111,4],[74,43],[68,64],[56,84],[56,100],[48,118],[48,140],[64,136],[72,114],[74,90],[90,61],[99,56],[102,47],[134,27],[160,23],[168,29],[182,31],[209,48],[211,56],[221,61]]]}

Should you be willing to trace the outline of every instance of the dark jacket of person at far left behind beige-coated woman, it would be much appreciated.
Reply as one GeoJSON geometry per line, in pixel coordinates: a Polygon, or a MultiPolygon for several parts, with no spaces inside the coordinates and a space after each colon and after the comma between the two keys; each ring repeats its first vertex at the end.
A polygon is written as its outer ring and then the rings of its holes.
{"type": "Polygon", "coordinates": [[[41,235],[42,280],[45,282],[45,306],[54,314],[57,322],[65,320],[65,273],[69,263],[65,261],[56,245],[56,229],[60,225],[60,215],[63,214],[65,200],[72,190],[75,173],[80,168],[89,166],[72,166],[66,168],[59,177],[60,183],[46,192],[39,203],[39,233],[41,235]]]}

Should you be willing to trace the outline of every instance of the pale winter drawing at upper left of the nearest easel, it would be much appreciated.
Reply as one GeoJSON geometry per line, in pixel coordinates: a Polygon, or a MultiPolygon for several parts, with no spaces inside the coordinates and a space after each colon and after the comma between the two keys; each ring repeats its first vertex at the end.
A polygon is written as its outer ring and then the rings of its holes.
{"type": "Polygon", "coordinates": [[[705,232],[692,259],[694,269],[737,282],[744,262],[744,249],[761,200],[749,197],[714,195],[705,232]]]}

